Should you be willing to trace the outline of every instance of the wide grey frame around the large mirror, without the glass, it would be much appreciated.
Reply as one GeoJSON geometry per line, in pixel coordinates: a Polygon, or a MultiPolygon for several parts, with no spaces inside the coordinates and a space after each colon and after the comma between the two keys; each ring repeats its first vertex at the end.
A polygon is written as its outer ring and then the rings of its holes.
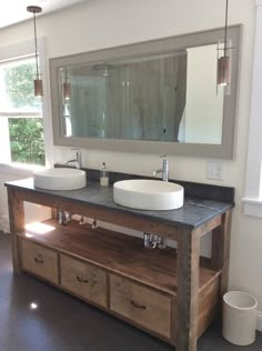
{"type": "Polygon", "coordinates": [[[222,142],[221,144],[183,143],[141,140],[117,140],[99,138],[74,138],[61,136],[59,107],[59,69],[74,64],[95,64],[113,62],[135,57],[168,53],[192,47],[208,46],[223,39],[224,28],[162,38],[109,49],[89,51],[72,56],[50,59],[50,83],[52,101],[53,142],[54,146],[77,147],[84,149],[110,150],[137,153],[157,153],[168,156],[203,157],[214,159],[233,159],[235,147],[236,98],[240,66],[240,40],[242,26],[230,26],[228,37],[232,39],[231,94],[224,96],[222,142]]]}

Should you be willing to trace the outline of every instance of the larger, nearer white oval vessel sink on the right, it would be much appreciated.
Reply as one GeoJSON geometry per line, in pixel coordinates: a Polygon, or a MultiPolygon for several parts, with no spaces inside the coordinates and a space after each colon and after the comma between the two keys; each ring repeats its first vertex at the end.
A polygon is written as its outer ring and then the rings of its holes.
{"type": "Polygon", "coordinates": [[[113,184],[113,200],[138,210],[175,210],[183,205],[184,189],[160,180],[121,180],[113,184]]]}

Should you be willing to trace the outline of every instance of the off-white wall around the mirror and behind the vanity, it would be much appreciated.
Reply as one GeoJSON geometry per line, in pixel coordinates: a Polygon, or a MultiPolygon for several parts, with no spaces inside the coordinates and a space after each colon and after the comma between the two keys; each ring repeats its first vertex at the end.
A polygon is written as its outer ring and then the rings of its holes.
{"type": "MultiPolygon", "coordinates": [[[[26,9],[24,9],[26,10],[26,9]]],[[[224,180],[205,177],[206,160],[201,158],[170,157],[171,178],[235,187],[236,207],[233,214],[230,265],[230,288],[254,294],[262,311],[262,221],[243,214],[243,197],[246,167],[246,143],[252,80],[252,53],[254,31],[254,1],[231,0],[229,23],[243,24],[241,57],[238,142],[234,161],[223,161],[224,180]]],[[[179,33],[222,27],[224,1],[218,0],[90,0],[83,4],[43,16],[38,19],[38,33],[47,38],[49,58],[113,47],[179,33]]],[[[0,43],[7,46],[30,39],[31,22],[0,30],[0,43]]],[[[60,161],[60,148],[54,148],[54,160],[60,161]]],[[[107,161],[109,170],[138,174],[151,174],[159,168],[159,154],[87,150],[83,163],[99,168],[107,161]]],[[[1,174],[0,174],[1,180],[1,174]]]]}

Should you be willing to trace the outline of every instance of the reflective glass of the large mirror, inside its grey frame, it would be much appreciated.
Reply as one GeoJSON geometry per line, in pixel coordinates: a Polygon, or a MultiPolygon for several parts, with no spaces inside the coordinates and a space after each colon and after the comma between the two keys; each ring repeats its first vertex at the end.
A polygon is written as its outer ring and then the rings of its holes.
{"type": "Polygon", "coordinates": [[[215,48],[61,68],[63,134],[221,143],[215,48]]]}

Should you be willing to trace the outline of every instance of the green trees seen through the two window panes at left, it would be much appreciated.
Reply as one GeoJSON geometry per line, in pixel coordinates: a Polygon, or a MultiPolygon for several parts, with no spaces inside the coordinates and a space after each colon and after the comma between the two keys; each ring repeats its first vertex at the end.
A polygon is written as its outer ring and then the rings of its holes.
{"type": "MultiPolygon", "coordinates": [[[[27,62],[4,69],[7,96],[12,109],[39,110],[33,93],[34,63],[27,62]]],[[[11,160],[44,164],[42,118],[9,118],[11,160]]]]}

